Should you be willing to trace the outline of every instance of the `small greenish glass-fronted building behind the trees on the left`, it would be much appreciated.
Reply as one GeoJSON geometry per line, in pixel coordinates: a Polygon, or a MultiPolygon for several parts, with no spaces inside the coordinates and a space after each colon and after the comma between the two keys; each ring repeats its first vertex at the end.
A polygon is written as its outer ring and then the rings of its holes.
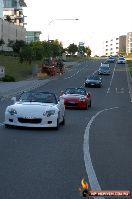
{"type": "Polygon", "coordinates": [[[27,31],[26,32],[26,42],[34,42],[34,41],[40,41],[40,34],[41,31],[27,31]]]}

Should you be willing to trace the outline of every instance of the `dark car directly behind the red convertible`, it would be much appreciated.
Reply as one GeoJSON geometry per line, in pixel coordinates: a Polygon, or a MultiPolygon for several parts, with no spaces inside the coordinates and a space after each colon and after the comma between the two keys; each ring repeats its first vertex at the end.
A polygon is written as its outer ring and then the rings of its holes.
{"type": "Polygon", "coordinates": [[[101,87],[102,86],[102,78],[98,75],[90,75],[85,80],[85,87],[101,87]]]}

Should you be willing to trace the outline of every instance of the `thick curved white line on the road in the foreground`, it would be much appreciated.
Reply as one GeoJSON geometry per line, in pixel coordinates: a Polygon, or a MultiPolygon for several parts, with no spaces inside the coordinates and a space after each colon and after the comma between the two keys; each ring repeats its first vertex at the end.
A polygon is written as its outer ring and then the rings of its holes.
{"type": "Polygon", "coordinates": [[[89,123],[87,124],[87,127],[85,129],[84,143],[83,143],[84,162],[85,162],[85,168],[86,168],[86,172],[87,172],[87,175],[88,175],[90,187],[93,190],[101,190],[101,187],[100,187],[98,179],[96,177],[96,174],[95,174],[95,171],[94,171],[94,168],[93,168],[93,165],[92,165],[91,156],[90,156],[90,150],[89,150],[90,127],[99,114],[101,114],[104,111],[109,111],[109,110],[113,110],[113,109],[116,109],[116,108],[119,108],[119,107],[107,108],[107,109],[103,109],[103,110],[97,112],[91,118],[91,120],[89,121],[89,123]]]}

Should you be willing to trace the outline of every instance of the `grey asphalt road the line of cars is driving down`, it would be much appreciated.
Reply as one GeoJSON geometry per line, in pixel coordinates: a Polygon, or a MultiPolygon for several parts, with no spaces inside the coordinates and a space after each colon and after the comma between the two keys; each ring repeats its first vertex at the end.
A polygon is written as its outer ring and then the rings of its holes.
{"type": "MultiPolygon", "coordinates": [[[[58,96],[84,86],[101,60],[77,64],[39,88],[58,96]]],[[[88,110],[66,110],[66,125],[52,129],[0,127],[0,199],[79,199],[84,177],[92,189],[132,190],[132,104],[124,64],[111,64],[88,110]]],[[[1,105],[0,122],[5,107],[1,105]]]]}

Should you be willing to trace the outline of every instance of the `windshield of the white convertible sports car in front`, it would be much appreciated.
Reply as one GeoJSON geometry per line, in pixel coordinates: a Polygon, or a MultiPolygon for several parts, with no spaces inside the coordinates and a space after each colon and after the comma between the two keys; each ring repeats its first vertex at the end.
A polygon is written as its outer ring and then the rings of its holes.
{"type": "Polygon", "coordinates": [[[48,92],[25,92],[19,98],[21,102],[57,103],[55,94],[48,92]]]}

